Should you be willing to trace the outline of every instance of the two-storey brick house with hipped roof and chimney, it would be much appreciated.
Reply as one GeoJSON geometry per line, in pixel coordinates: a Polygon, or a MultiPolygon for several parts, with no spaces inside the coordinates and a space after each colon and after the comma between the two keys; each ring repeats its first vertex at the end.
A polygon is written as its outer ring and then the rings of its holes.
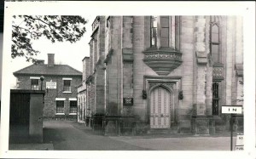
{"type": "Polygon", "coordinates": [[[18,89],[45,90],[44,118],[77,118],[77,88],[82,72],[69,65],[55,65],[55,54],[48,54],[48,64],[40,60],[15,71],[18,89]],[[42,81],[42,77],[44,80],[42,81]]]}

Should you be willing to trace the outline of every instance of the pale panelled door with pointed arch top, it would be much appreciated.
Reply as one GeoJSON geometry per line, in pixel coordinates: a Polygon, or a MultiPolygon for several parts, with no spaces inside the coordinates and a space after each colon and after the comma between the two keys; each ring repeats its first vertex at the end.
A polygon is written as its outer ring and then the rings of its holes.
{"type": "Polygon", "coordinates": [[[150,93],[150,128],[171,127],[171,93],[163,87],[154,88],[150,93]]]}

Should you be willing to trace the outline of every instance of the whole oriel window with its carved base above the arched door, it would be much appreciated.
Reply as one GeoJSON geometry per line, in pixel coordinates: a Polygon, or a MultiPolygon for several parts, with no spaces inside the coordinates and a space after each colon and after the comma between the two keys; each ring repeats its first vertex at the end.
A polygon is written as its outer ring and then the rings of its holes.
{"type": "Polygon", "coordinates": [[[150,16],[150,47],[143,51],[143,61],[160,76],[170,74],[183,62],[179,26],[178,16],[150,16]]]}

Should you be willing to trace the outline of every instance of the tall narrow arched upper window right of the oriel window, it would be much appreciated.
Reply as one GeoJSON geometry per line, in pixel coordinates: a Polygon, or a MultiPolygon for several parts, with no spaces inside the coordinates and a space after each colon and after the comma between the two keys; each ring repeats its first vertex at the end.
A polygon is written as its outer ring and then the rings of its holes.
{"type": "Polygon", "coordinates": [[[221,63],[219,17],[210,17],[210,53],[213,63],[221,63]]]}

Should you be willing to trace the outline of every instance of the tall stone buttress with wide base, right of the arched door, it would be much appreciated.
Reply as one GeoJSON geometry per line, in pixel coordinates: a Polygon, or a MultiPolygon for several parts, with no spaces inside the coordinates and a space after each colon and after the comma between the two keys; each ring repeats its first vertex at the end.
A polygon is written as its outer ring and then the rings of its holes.
{"type": "MultiPolygon", "coordinates": [[[[212,83],[211,69],[207,60],[208,35],[207,18],[205,16],[195,17],[195,55],[196,55],[196,94],[195,111],[192,116],[192,133],[209,134],[212,133],[212,116],[209,116],[209,84],[212,83]],[[208,72],[210,71],[210,72],[208,72]],[[211,80],[211,82],[209,82],[211,80]],[[207,84],[207,82],[209,82],[207,84]]],[[[211,97],[211,96],[210,96],[211,97]]]]}

